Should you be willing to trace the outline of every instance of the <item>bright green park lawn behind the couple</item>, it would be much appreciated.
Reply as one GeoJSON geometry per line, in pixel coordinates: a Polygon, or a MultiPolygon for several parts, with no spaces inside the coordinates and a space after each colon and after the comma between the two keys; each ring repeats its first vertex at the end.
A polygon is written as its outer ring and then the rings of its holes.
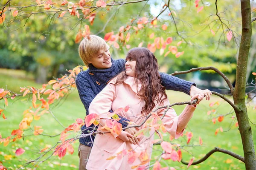
{"type": "MultiPolygon", "coordinates": [[[[12,73],[13,74],[13,73],[12,73]]],[[[5,85],[8,85],[8,88],[12,91],[18,91],[19,87],[23,87],[25,85],[30,85],[33,87],[40,87],[41,85],[36,84],[30,79],[24,79],[24,77],[12,77],[8,73],[1,75],[0,77],[0,88],[5,88],[5,85]]],[[[189,100],[189,96],[186,94],[182,94],[180,92],[168,91],[168,98],[170,103],[173,102],[182,102],[189,100]]],[[[183,160],[189,161],[195,156],[195,160],[202,158],[205,153],[209,152],[209,150],[214,147],[220,147],[223,149],[231,150],[241,156],[243,156],[243,150],[241,145],[241,137],[239,135],[238,127],[235,126],[231,116],[229,119],[225,118],[223,122],[216,121],[216,124],[212,123],[212,116],[207,115],[207,111],[218,108],[218,114],[226,114],[229,113],[231,107],[216,96],[212,96],[211,101],[203,101],[198,105],[192,120],[189,122],[187,127],[188,131],[192,131],[193,137],[186,147],[186,136],[181,137],[177,140],[173,140],[173,143],[181,144],[184,150],[182,150],[183,160]],[[220,105],[214,105],[212,108],[209,107],[210,102],[220,102],[220,105]],[[218,132],[215,136],[215,130],[219,127],[222,127],[224,132],[218,132]],[[227,131],[227,132],[225,132],[227,131]],[[199,145],[199,136],[201,136],[203,140],[203,145],[199,145]],[[195,147],[191,147],[195,145],[195,147]],[[191,154],[189,154],[191,153],[191,154]]],[[[4,102],[0,101],[0,108],[3,108],[4,102]]],[[[6,111],[4,111],[7,119],[0,119],[0,134],[2,137],[10,136],[12,130],[17,129],[20,121],[23,119],[23,111],[28,109],[31,106],[31,102],[22,102],[17,98],[12,101],[9,99],[9,105],[6,107],[6,111]]],[[[175,106],[175,111],[177,114],[180,114],[185,106],[175,106]]],[[[84,119],[85,110],[82,105],[77,91],[73,91],[66,99],[60,101],[60,104],[56,105],[52,108],[52,112],[56,116],[56,118],[65,126],[71,125],[77,118],[84,119]]],[[[252,108],[248,109],[248,113],[250,116],[251,122],[256,122],[256,110],[252,108]]],[[[215,115],[216,116],[216,115],[215,115]]],[[[64,130],[58,122],[55,121],[51,114],[44,114],[41,116],[41,119],[36,121],[33,120],[31,128],[26,134],[33,133],[33,126],[42,126],[44,129],[44,134],[55,135],[61,133],[64,130]]],[[[252,125],[253,132],[255,132],[255,126],[252,125]]],[[[255,134],[255,133],[254,133],[255,134]]],[[[73,133],[70,137],[76,136],[77,134],[73,133]]],[[[169,141],[169,135],[164,136],[164,138],[169,141]]],[[[157,139],[157,136],[156,136],[157,139]]],[[[256,141],[256,135],[253,135],[254,142],[256,141]]],[[[9,167],[10,169],[16,169],[21,164],[24,164],[26,161],[31,158],[35,159],[39,155],[38,150],[43,149],[44,147],[51,145],[53,146],[56,142],[59,141],[59,136],[50,138],[47,136],[28,136],[24,139],[18,140],[16,142],[11,142],[7,147],[3,147],[3,143],[0,144],[0,161],[3,162],[3,165],[9,167]],[[21,156],[15,156],[15,150],[19,147],[22,147],[26,150],[26,152],[21,156]],[[4,160],[4,156],[6,158],[9,157],[10,160],[4,160]]],[[[39,165],[38,169],[78,169],[79,159],[77,156],[77,148],[79,142],[77,141],[74,144],[75,152],[73,155],[67,153],[64,158],[59,159],[58,156],[52,156],[51,159],[46,160],[44,163],[39,165]]],[[[160,146],[154,146],[154,152],[152,154],[152,159],[157,157],[162,150],[160,146]]],[[[43,159],[41,159],[43,160],[43,159]]],[[[153,161],[151,161],[153,162],[153,161]]],[[[169,166],[175,167],[176,169],[186,169],[186,165],[181,164],[179,162],[173,162],[170,160],[161,160],[162,167],[165,167],[167,164],[169,166]]],[[[28,166],[31,167],[31,166],[28,166]]],[[[189,167],[190,170],[200,169],[200,170],[243,170],[244,163],[238,161],[237,159],[233,159],[233,157],[226,155],[224,153],[214,153],[209,157],[206,161],[201,164],[189,167]]]]}

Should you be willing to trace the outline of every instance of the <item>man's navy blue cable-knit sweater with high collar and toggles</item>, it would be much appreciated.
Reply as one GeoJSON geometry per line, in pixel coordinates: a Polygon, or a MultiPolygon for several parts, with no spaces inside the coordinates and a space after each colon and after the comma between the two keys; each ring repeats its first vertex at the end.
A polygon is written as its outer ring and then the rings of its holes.
{"type": "MultiPolygon", "coordinates": [[[[93,65],[89,65],[89,69],[80,72],[76,77],[76,86],[79,92],[81,102],[84,104],[86,115],[88,114],[89,106],[94,97],[102,91],[107,85],[107,82],[125,70],[125,59],[114,60],[111,58],[112,66],[107,69],[97,69],[93,65]]],[[[169,74],[160,73],[161,83],[166,90],[181,91],[189,95],[191,85],[195,85],[193,82],[185,81],[169,74]]],[[[128,121],[125,118],[121,118],[119,123],[122,127],[127,127],[128,121]]],[[[81,127],[82,133],[87,134],[93,130],[94,126],[81,127]]],[[[95,128],[96,129],[96,128],[95,128]]],[[[94,136],[87,136],[80,138],[81,144],[92,147],[94,136]]]]}

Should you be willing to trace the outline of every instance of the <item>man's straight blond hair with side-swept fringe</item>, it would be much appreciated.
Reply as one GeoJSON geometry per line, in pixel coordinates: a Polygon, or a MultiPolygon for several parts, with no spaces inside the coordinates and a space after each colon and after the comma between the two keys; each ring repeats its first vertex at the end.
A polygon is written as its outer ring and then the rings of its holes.
{"type": "Polygon", "coordinates": [[[96,57],[100,50],[109,48],[105,40],[96,35],[90,35],[84,38],[79,44],[78,51],[79,56],[83,60],[85,65],[89,65],[89,62],[96,57]]]}

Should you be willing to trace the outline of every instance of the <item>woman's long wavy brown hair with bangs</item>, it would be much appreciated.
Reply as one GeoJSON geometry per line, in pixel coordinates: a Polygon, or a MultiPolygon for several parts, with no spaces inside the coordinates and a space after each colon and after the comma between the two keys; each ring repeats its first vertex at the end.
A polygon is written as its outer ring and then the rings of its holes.
{"type": "MultiPolygon", "coordinates": [[[[138,96],[145,101],[142,108],[142,114],[148,115],[155,107],[156,103],[163,103],[167,99],[165,88],[161,85],[160,75],[158,73],[159,65],[154,54],[148,48],[138,47],[128,51],[126,59],[136,60],[135,83],[141,82],[141,88],[138,96]]],[[[117,75],[115,85],[119,85],[127,78],[125,71],[117,75]]]]}

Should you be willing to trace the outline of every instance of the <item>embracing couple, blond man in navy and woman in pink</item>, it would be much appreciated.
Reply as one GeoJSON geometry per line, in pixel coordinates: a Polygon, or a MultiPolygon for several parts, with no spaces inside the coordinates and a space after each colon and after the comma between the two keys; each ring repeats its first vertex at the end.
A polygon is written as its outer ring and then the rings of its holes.
{"type": "MultiPolygon", "coordinates": [[[[157,59],[147,48],[132,48],[125,60],[113,60],[105,41],[98,36],[90,35],[90,38],[81,41],[79,55],[89,67],[76,78],[79,96],[87,114],[100,115],[99,127],[104,126],[106,119],[110,119],[102,113],[115,111],[126,105],[129,106],[129,110],[120,113],[119,123],[122,127],[127,127],[128,121],[140,124],[157,105],[169,104],[165,89],[190,94],[192,100],[197,98],[198,102],[204,96],[209,99],[211,95],[209,90],[202,91],[192,82],[158,72],[157,59]]],[[[158,110],[157,114],[163,115],[164,110],[158,110]]],[[[194,110],[195,106],[186,106],[180,116],[177,116],[170,108],[162,120],[167,131],[177,139],[183,133],[194,110]]],[[[82,132],[85,134],[90,133],[91,130],[93,126],[82,127],[82,132]]],[[[148,148],[148,156],[150,156],[152,148],[150,141],[154,136],[137,138],[134,136],[136,132],[137,129],[129,128],[122,131],[119,136],[106,133],[97,134],[95,140],[94,136],[80,138],[79,170],[131,169],[132,165],[128,165],[127,161],[128,156],[124,156],[121,160],[106,159],[124,149],[140,152],[148,148]]],[[[154,130],[151,133],[154,133],[154,130]]],[[[134,165],[136,164],[139,162],[135,161],[134,165]]]]}

